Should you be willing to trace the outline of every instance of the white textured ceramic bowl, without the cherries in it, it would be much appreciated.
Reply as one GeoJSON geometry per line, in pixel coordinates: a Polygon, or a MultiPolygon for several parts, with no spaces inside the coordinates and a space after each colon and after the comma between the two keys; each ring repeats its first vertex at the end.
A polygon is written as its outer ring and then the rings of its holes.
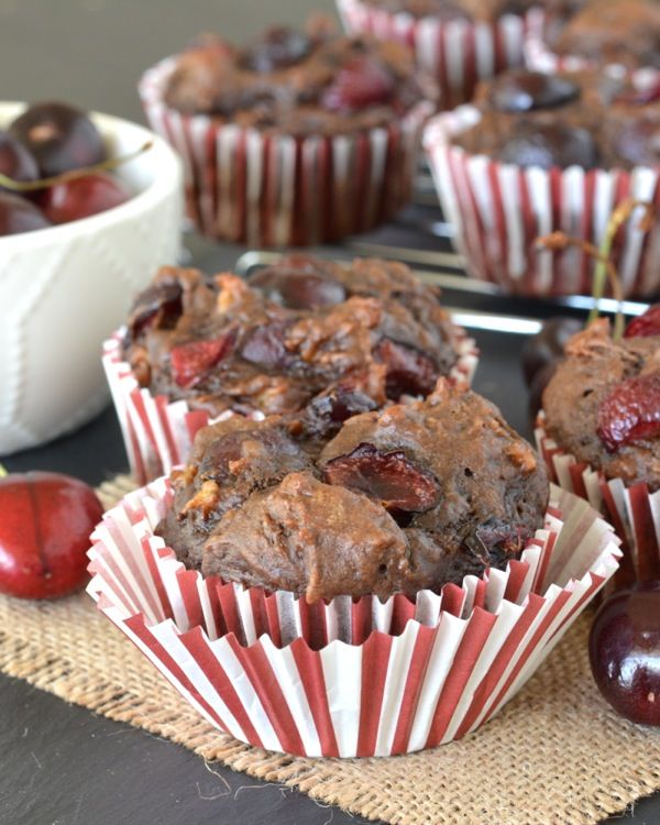
{"type": "MultiPolygon", "coordinates": [[[[0,103],[0,127],[24,103],[0,103]]],[[[182,168],[146,129],[92,113],[112,155],[153,140],[116,174],[125,204],[59,227],[0,238],[0,454],[79,427],[108,399],[102,342],[133,295],[179,252],[182,168]]]]}

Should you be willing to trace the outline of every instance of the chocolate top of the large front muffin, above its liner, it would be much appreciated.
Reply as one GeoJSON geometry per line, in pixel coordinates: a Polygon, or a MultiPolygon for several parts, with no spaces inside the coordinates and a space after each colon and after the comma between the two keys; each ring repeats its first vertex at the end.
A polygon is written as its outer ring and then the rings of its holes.
{"type": "Polygon", "coordinates": [[[308,602],[414,595],[518,558],[548,481],[481,396],[440,380],[425,400],[309,440],[282,417],[199,431],[156,532],[205,575],[308,602]]]}

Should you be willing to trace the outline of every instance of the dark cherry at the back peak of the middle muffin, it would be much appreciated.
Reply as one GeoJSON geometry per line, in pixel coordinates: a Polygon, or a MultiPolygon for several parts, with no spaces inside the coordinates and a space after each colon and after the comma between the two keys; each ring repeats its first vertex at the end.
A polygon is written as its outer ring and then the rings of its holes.
{"type": "Polygon", "coordinates": [[[339,280],[314,266],[302,256],[290,256],[250,277],[250,286],[275,304],[290,309],[316,309],[341,304],[346,290],[339,280]]]}

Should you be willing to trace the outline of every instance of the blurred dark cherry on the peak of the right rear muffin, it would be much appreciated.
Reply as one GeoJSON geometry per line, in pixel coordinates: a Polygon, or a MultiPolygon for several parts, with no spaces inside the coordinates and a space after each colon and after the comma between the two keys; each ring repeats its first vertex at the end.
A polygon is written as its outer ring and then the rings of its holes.
{"type": "Polygon", "coordinates": [[[493,81],[491,103],[503,112],[528,112],[563,106],[580,96],[580,87],[565,77],[518,69],[493,81]]]}

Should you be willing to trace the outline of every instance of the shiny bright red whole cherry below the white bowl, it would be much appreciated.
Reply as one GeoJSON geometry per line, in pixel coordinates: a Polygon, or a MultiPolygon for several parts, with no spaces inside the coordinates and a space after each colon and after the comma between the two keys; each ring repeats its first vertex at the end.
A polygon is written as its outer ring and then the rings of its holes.
{"type": "Polygon", "coordinates": [[[61,473],[0,479],[0,593],[53,598],[87,581],[89,536],[103,508],[81,481],[61,473]]]}

